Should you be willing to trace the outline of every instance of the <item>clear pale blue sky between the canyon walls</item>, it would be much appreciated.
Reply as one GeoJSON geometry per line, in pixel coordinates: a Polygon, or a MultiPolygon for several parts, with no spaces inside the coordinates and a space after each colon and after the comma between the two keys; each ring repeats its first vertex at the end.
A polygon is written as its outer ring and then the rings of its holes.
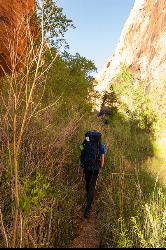
{"type": "Polygon", "coordinates": [[[71,54],[95,62],[98,72],[114,53],[134,0],[57,0],[76,29],[65,38],[71,54]]]}

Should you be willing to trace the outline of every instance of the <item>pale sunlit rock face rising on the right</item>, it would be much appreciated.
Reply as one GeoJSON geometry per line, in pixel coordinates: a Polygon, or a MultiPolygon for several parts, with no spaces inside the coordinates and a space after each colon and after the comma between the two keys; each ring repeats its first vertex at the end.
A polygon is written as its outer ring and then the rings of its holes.
{"type": "Polygon", "coordinates": [[[135,0],[115,53],[96,79],[100,94],[109,90],[121,62],[136,80],[159,84],[166,79],[166,0],[135,0]]]}

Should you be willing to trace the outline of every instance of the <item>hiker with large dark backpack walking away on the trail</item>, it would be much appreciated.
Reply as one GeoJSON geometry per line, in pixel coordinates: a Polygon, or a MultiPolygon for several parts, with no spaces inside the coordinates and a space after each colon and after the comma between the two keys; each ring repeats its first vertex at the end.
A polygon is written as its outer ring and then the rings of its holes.
{"type": "Polygon", "coordinates": [[[85,176],[87,205],[84,210],[84,218],[88,218],[99,170],[104,165],[105,149],[104,144],[101,143],[101,133],[95,130],[88,131],[85,134],[85,140],[80,145],[80,149],[81,155],[78,172],[79,174],[84,172],[85,176]]]}

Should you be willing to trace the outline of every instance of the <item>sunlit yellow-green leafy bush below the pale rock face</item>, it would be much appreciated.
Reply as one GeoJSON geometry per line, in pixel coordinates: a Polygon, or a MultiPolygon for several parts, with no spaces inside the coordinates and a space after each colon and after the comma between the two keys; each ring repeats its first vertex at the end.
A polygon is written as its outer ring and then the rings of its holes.
{"type": "Polygon", "coordinates": [[[110,88],[108,104],[117,107],[126,120],[136,121],[140,128],[156,131],[161,113],[164,114],[164,108],[161,108],[165,105],[163,90],[156,87],[154,91],[152,87],[147,91],[147,84],[135,81],[128,68],[121,63],[121,71],[110,88]],[[112,96],[115,98],[112,99],[112,96]]]}

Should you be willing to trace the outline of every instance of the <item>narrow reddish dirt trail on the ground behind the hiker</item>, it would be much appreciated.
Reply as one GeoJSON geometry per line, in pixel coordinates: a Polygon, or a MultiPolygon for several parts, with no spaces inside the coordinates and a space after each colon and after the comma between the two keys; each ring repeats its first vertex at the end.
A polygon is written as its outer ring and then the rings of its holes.
{"type": "Polygon", "coordinates": [[[94,204],[88,219],[83,218],[78,227],[77,236],[73,241],[72,248],[99,248],[100,241],[97,237],[96,228],[96,205],[94,204]]]}

